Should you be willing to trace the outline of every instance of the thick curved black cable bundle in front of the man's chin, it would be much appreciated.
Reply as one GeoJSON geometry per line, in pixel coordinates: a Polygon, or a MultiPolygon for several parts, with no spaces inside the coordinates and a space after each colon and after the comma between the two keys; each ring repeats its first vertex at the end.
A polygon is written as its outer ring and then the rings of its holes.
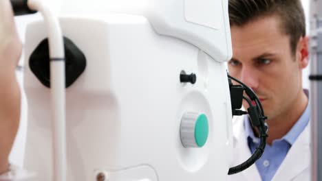
{"type": "Polygon", "coordinates": [[[259,131],[259,140],[260,140],[259,147],[255,149],[255,152],[253,153],[252,156],[250,156],[250,158],[248,158],[248,160],[241,163],[240,165],[231,167],[229,169],[228,175],[232,175],[235,173],[239,173],[240,171],[244,171],[245,169],[248,169],[248,167],[253,165],[256,162],[256,160],[258,160],[261,157],[261,155],[264,153],[264,149],[266,147],[266,137],[268,136],[267,135],[268,126],[265,123],[265,119],[267,118],[264,116],[265,114],[264,114],[263,106],[261,105],[261,101],[254,93],[254,91],[248,86],[246,86],[245,84],[243,84],[242,82],[240,82],[239,80],[235,79],[234,77],[231,77],[230,75],[228,75],[228,78],[235,80],[235,82],[238,82],[239,84],[241,84],[241,86],[244,87],[246,94],[250,98],[248,99],[247,97],[243,96],[243,99],[245,99],[249,105],[248,114],[250,115],[250,121],[252,125],[255,126],[259,131]],[[256,105],[253,106],[250,100],[255,101],[256,105]]]}

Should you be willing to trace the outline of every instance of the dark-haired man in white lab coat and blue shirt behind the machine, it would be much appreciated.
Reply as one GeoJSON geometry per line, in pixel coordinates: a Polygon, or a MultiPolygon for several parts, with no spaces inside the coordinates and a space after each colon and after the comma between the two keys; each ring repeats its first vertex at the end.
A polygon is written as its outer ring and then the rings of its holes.
{"type": "MultiPolygon", "coordinates": [[[[300,0],[229,0],[233,58],[230,75],[252,88],[268,119],[263,156],[229,180],[310,180],[308,95],[302,69],[308,38],[300,0]]],[[[248,104],[243,102],[248,108],[248,104]]],[[[235,158],[244,162],[259,145],[247,116],[234,121],[235,158]]]]}

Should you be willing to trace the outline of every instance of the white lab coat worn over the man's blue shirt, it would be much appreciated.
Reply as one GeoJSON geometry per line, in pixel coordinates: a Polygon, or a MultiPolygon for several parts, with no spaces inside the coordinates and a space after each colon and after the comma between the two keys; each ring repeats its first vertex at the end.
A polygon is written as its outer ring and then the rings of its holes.
{"type": "MultiPolygon", "coordinates": [[[[250,149],[247,144],[244,117],[237,117],[233,121],[233,164],[236,166],[244,162],[251,156],[250,149]]],[[[310,122],[303,132],[294,142],[286,158],[272,178],[272,181],[309,181],[310,180],[310,122]]],[[[229,181],[260,181],[261,177],[256,165],[252,165],[248,169],[228,176],[229,181]]]]}

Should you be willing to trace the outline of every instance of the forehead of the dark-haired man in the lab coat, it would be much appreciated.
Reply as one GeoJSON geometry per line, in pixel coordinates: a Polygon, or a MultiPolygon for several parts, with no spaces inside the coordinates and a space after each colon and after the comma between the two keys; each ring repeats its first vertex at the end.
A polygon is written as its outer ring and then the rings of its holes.
{"type": "Polygon", "coordinates": [[[266,16],[244,26],[233,25],[230,32],[235,59],[240,56],[247,56],[247,59],[272,56],[290,48],[290,37],[281,32],[275,16],[266,16]]]}

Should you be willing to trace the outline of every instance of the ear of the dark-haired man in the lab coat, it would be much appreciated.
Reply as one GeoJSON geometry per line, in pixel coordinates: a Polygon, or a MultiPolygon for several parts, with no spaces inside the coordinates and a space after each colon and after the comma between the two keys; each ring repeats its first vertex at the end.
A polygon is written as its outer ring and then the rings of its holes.
{"type": "Polygon", "coordinates": [[[299,43],[297,44],[297,60],[299,62],[300,69],[304,69],[308,66],[308,41],[308,36],[303,36],[299,39],[299,43]]]}

